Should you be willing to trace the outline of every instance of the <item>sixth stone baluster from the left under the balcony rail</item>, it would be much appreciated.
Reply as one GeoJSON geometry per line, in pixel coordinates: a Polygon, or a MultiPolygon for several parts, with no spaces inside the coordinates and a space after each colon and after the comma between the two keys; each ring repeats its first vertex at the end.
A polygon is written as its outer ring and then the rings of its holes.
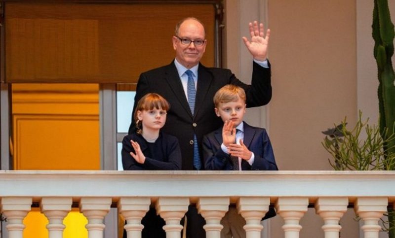
{"type": "Polygon", "coordinates": [[[220,238],[221,219],[229,209],[229,198],[223,197],[203,197],[197,202],[197,211],[206,220],[203,229],[206,231],[207,238],[220,238]]]}

